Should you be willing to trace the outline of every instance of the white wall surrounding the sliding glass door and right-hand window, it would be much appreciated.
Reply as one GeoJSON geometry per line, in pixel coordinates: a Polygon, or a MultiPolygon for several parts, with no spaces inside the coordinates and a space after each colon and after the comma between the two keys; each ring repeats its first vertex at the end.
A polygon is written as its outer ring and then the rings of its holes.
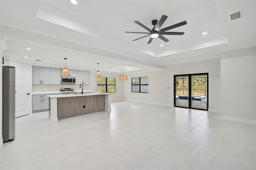
{"type": "Polygon", "coordinates": [[[129,74],[124,99],[174,106],[174,75],[209,73],[209,111],[220,112],[220,58],[164,66],[162,71],[129,74]],[[132,77],[149,77],[149,94],[131,93],[132,77]],[[169,87],[169,89],[168,89],[169,87]]]}

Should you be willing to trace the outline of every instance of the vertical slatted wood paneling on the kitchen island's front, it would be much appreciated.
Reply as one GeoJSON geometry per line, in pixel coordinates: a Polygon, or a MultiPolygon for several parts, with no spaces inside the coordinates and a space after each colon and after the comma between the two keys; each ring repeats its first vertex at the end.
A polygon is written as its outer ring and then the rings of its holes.
{"type": "Polygon", "coordinates": [[[105,110],[105,95],[75,96],[57,99],[58,119],[70,118],[105,110]],[[85,108],[83,108],[85,105],[85,108]]]}

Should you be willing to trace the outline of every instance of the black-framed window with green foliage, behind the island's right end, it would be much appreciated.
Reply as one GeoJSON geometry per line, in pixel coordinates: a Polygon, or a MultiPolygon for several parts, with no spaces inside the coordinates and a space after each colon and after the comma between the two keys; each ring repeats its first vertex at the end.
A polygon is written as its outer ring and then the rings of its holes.
{"type": "Polygon", "coordinates": [[[97,77],[97,92],[116,92],[116,78],[97,77]]]}

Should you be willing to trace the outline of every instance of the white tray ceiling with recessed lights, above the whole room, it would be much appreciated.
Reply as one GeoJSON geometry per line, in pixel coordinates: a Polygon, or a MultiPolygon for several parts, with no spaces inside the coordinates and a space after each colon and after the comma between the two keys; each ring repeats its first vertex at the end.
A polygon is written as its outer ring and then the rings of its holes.
{"type": "Polygon", "coordinates": [[[100,63],[102,72],[121,73],[126,66],[129,74],[256,45],[255,0],[1,0],[0,10],[4,56],[36,66],[62,68],[68,58],[70,69],[96,71],[100,63]],[[238,10],[242,18],[231,21],[229,14],[238,10]],[[151,21],[162,15],[168,18],[161,28],[186,20],[169,30],[185,34],[147,44],[149,37],[132,41],[145,34],[125,33],[148,32],[134,21],[153,28],[151,21]]]}

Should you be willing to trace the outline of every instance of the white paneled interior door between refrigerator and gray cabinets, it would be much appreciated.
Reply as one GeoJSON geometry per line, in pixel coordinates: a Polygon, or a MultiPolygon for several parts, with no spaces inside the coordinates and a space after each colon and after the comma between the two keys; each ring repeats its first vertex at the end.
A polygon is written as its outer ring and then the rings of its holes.
{"type": "Polygon", "coordinates": [[[15,68],[16,111],[15,117],[29,114],[30,85],[29,69],[15,68]]]}

